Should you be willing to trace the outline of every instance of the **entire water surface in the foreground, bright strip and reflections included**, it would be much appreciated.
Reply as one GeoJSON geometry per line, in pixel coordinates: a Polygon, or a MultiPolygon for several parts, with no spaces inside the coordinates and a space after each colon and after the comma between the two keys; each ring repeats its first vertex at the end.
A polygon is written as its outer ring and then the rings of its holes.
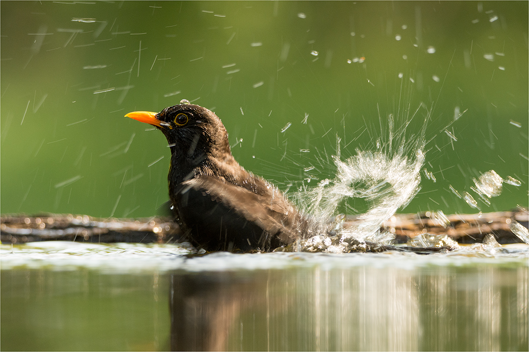
{"type": "Polygon", "coordinates": [[[2,245],[2,350],[527,350],[525,244],[192,251],[2,245]]]}

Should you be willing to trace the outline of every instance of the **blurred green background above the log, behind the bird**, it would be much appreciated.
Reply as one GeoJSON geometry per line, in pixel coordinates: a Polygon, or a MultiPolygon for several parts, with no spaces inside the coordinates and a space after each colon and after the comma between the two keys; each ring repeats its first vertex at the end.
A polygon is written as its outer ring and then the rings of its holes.
{"type": "Polygon", "coordinates": [[[167,142],[123,116],[181,99],[215,111],[235,158],[289,193],[334,176],[336,136],[344,158],[385,140],[389,113],[399,127],[419,109],[411,137],[432,109],[436,182],[423,174],[401,211],[476,212],[449,186],[478,199],[472,178],[490,169],[522,185],[481,210],[527,206],[527,2],[0,6],[2,213],[162,213],[167,142]]]}

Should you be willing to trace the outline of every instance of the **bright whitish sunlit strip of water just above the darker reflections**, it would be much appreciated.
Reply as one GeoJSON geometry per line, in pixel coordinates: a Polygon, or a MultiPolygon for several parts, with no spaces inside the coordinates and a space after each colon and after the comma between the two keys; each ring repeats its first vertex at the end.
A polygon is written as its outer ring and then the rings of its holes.
{"type": "Polygon", "coordinates": [[[439,266],[464,266],[489,263],[527,266],[528,246],[507,244],[487,246],[482,244],[461,246],[448,253],[417,255],[414,253],[253,253],[233,254],[216,252],[193,255],[196,250],[188,243],[94,244],[67,241],[32,242],[20,245],[0,245],[2,270],[95,269],[108,273],[149,273],[171,270],[225,271],[288,269],[294,267],[322,267],[325,269],[348,267],[376,267],[413,269],[439,266]]]}

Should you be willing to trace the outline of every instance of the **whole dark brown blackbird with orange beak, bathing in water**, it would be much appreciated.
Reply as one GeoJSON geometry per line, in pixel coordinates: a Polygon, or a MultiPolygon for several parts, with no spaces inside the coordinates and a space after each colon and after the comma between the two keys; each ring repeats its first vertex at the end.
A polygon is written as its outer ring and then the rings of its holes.
{"type": "Polygon", "coordinates": [[[214,112],[183,99],[158,113],[125,117],[167,138],[170,208],[190,243],[208,252],[267,252],[307,236],[306,217],[285,194],[234,159],[214,112]]]}

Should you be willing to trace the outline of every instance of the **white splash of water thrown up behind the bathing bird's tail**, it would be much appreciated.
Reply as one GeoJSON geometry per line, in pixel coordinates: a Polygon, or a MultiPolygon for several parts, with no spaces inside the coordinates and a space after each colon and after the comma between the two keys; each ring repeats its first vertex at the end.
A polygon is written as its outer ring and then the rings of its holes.
{"type": "Polygon", "coordinates": [[[346,252],[355,242],[388,244],[394,235],[381,232],[382,224],[395,212],[405,207],[418,193],[421,168],[425,162],[425,129],[428,113],[421,131],[405,138],[409,123],[393,132],[393,117],[389,116],[387,142],[377,140],[376,149],[355,150],[355,155],[340,158],[340,138],[337,137],[336,155],[333,161],[336,176],[324,179],[313,189],[303,189],[296,194],[308,213],[311,239],[301,243],[304,250],[346,252]],[[395,147],[395,141],[400,141],[395,147]],[[369,209],[359,215],[358,221],[345,226],[344,215],[335,216],[338,207],[348,198],[362,198],[369,209]],[[335,220],[333,221],[333,217],[335,220]]]}

